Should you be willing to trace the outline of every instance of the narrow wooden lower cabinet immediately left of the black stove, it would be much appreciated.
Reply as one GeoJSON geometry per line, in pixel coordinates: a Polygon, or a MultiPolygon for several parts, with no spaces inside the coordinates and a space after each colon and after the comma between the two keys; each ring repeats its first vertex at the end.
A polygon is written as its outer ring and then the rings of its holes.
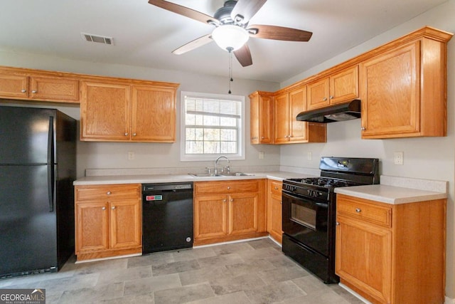
{"type": "Polygon", "coordinates": [[[267,232],[279,243],[283,239],[282,187],[282,182],[267,180],[267,232]]]}

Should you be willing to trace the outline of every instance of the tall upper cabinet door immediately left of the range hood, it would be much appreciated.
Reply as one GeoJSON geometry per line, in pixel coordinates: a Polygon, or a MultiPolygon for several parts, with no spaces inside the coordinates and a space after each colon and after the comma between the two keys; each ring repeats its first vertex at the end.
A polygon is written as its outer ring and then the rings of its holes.
{"type": "Polygon", "coordinates": [[[306,110],[306,87],[289,93],[289,142],[308,140],[308,122],[296,120],[296,116],[306,110]]]}

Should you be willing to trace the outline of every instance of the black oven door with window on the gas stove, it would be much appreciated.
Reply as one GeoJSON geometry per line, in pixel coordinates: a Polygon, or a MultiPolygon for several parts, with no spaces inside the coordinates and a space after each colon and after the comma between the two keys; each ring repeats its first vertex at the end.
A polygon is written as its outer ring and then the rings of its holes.
{"type": "Polygon", "coordinates": [[[283,232],[304,246],[328,256],[328,204],[282,192],[283,232]]]}

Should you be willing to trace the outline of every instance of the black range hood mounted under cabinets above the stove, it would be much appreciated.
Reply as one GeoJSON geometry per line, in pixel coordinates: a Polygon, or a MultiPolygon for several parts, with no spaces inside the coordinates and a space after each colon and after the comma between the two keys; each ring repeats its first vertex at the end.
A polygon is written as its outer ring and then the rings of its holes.
{"type": "Polygon", "coordinates": [[[352,100],[350,103],[301,112],[296,116],[296,120],[306,122],[338,122],[356,118],[360,118],[360,100],[358,99],[352,100]]]}

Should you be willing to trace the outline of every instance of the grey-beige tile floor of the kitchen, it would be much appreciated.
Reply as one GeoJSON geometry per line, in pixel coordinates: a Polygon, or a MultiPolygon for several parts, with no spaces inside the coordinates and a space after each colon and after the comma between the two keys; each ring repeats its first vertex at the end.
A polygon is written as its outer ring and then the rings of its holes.
{"type": "Polygon", "coordinates": [[[58,273],[0,281],[0,288],[45,288],[46,303],[360,304],[326,285],[270,239],[77,263],[58,273]]]}

